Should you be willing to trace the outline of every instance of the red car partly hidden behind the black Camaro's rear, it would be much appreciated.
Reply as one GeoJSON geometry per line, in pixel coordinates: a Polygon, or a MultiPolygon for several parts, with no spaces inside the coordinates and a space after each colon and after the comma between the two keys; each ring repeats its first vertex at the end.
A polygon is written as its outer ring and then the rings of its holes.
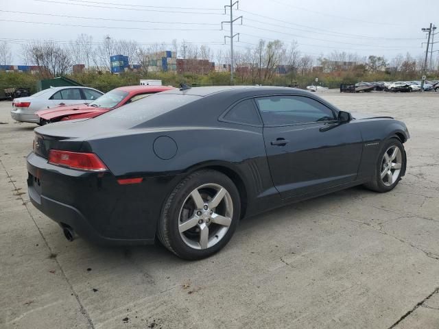
{"type": "Polygon", "coordinates": [[[40,125],[74,119],[94,118],[114,108],[137,101],[148,95],[172,89],[169,86],[126,86],[110,90],[95,101],[86,104],[58,106],[35,112],[40,117],[40,125]]]}

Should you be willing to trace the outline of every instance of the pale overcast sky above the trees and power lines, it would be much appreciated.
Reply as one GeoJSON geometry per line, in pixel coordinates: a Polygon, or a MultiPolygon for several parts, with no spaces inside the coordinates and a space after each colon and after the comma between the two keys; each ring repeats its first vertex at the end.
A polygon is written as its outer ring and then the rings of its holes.
{"type": "MultiPolygon", "coordinates": [[[[21,64],[19,44],[26,40],[68,42],[81,33],[90,34],[96,42],[109,35],[133,39],[139,44],[185,39],[209,42],[213,49],[229,47],[214,44],[224,42],[224,35],[228,34],[220,30],[221,21],[230,19],[229,13],[224,15],[224,5],[230,4],[226,0],[1,0],[1,3],[0,40],[14,39],[11,41],[16,51],[12,64],[21,64]]],[[[241,34],[241,42],[235,44],[237,49],[255,44],[259,38],[286,43],[296,40],[300,51],[311,56],[337,50],[361,57],[385,56],[390,60],[407,51],[413,56],[423,53],[421,42],[426,38],[420,29],[429,23],[439,25],[439,1],[240,0],[234,16],[244,16],[244,25],[237,22],[234,29],[241,34]]],[[[439,43],[436,45],[439,49],[439,43]]]]}

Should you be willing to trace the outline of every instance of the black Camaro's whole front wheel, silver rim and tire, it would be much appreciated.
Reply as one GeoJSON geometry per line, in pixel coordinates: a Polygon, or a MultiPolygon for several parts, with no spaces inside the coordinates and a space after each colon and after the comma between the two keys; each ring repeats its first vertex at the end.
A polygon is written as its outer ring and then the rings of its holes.
{"type": "Polygon", "coordinates": [[[390,138],[379,154],[375,180],[365,184],[367,188],[377,192],[392,190],[399,180],[405,167],[405,152],[403,144],[397,138],[390,138]]]}

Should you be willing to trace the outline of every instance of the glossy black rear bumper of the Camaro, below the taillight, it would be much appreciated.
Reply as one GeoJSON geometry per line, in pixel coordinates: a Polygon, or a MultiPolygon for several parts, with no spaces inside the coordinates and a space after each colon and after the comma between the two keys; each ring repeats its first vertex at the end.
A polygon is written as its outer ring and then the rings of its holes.
{"type": "Polygon", "coordinates": [[[110,172],[54,166],[34,152],[27,156],[27,171],[32,204],[60,226],[99,244],[154,243],[163,199],[173,188],[167,176],[119,185],[110,172]]]}

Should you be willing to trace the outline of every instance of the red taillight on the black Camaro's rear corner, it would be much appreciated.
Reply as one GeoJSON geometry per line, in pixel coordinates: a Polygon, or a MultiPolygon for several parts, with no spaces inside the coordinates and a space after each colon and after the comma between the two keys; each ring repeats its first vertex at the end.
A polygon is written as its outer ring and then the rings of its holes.
{"type": "Polygon", "coordinates": [[[51,149],[49,151],[49,163],[71,169],[85,171],[106,171],[108,168],[94,153],[82,153],[71,151],[60,151],[51,149]]]}

